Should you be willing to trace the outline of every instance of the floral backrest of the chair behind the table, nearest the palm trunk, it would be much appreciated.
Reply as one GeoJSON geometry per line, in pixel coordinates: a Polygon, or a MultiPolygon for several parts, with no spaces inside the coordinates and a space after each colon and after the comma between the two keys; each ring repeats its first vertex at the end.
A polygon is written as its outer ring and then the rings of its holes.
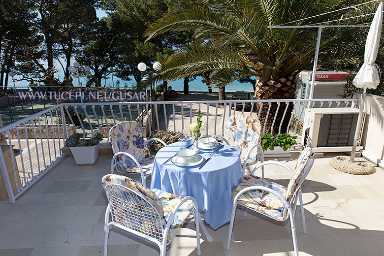
{"type": "MultiPolygon", "coordinates": [[[[261,124],[256,118],[248,115],[230,116],[225,122],[224,138],[234,147],[242,158],[249,148],[260,143],[261,124]]],[[[248,159],[256,160],[257,150],[253,150],[248,159]]]]}

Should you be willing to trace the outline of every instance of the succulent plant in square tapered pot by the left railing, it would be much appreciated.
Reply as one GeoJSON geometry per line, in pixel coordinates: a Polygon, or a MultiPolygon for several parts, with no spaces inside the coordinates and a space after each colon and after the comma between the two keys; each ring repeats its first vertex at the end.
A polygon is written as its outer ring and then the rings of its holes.
{"type": "Polygon", "coordinates": [[[98,158],[99,142],[103,139],[103,135],[95,132],[93,138],[82,137],[83,134],[77,132],[70,135],[65,140],[65,146],[70,149],[76,164],[93,164],[98,158]]]}

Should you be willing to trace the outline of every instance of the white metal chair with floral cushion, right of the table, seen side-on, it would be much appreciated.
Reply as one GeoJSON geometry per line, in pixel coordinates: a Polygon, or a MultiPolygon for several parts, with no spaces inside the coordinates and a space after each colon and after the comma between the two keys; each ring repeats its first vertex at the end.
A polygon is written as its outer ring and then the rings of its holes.
{"type": "Polygon", "coordinates": [[[245,175],[243,177],[240,184],[232,193],[233,207],[226,246],[227,250],[229,250],[230,247],[236,206],[239,204],[240,206],[244,206],[245,209],[251,209],[276,221],[284,222],[289,217],[292,231],[293,249],[295,255],[298,256],[294,216],[296,212],[297,199],[299,199],[303,232],[307,233],[303,199],[301,195],[301,185],[314,163],[315,159],[311,155],[311,148],[304,149],[296,161],[293,170],[283,163],[268,161],[257,165],[250,175],[245,175]],[[275,182],[253,175],[258,168],[267,164],[276,164],[291,172],[292,175],[287,188],[275,182]]]}

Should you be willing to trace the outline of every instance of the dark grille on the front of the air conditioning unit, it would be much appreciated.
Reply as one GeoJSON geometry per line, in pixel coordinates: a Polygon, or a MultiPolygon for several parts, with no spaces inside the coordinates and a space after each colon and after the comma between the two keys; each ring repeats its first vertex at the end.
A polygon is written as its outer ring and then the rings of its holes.
{"type": "Polygon", "coordinates": [[[320,119],[318,147],[352,146],[358,114],[324,114],[320,119]]]}

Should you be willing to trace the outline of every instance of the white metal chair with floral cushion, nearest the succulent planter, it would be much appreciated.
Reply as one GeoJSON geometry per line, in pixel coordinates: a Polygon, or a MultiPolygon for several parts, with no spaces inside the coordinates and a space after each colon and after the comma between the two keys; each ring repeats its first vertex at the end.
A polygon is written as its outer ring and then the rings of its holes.
{"type": "Polygon", "coordinates": [[[113,158],[111,174],[131,173],[140,174],[144,186],[148,176],[152,174],[154,157],[151,156],[148,143],[152,140],[159,141],[164,146],[166,143],[158,138],[144,141],[143,131],[138,121],[121,122],[109,130],[109,140],[112,144],[113,158]]]}

